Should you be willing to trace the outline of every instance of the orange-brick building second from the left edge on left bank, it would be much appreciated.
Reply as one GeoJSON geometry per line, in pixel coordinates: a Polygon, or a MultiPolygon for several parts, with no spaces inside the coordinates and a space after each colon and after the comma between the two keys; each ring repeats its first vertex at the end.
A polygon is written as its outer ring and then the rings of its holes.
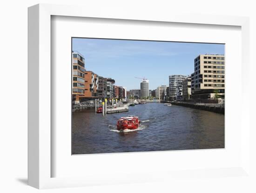
{"type": "Polygon", "coordinates": [[[99,97],[99,77],[93,71],[85,71],[85,90],[84,97],[95,98],[99,97]]]}

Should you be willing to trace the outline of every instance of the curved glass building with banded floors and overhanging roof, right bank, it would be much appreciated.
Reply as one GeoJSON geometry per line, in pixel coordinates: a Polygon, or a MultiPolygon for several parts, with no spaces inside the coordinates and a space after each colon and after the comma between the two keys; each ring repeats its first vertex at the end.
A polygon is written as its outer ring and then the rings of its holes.
{"type": "Polygon", "coordinates": [[[186,75],[170,75],[169,76],[169,100],[176,100],[182,96],[182,83],[186,75]]]}

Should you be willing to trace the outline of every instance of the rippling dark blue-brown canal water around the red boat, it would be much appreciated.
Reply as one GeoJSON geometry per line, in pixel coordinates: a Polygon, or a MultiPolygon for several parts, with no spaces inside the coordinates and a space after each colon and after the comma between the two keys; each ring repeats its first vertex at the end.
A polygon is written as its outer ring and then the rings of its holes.
{"type": "Polygon", "coordinates": [[[163,103],[138,104],[128,112],[73,112],[73,154],[224,148],[224,115],[163,103]],[[121,116],[139,116],[139,129],[116,130],[121,116]]]}

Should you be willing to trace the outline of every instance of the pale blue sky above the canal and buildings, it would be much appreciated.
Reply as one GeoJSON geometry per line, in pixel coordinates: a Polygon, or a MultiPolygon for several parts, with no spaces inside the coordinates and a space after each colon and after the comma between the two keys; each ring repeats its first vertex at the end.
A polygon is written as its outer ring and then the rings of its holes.
{"type": "Polygon", "coordinates": [[[141,79],[149,89],[167,85],[168,76],[190,75],[199,54],[224,54],[224,45],[159,41],[73,38],[73,51],[85,57],[87,71],[115,79],[115,85],[139,89],[141,79]]]}

